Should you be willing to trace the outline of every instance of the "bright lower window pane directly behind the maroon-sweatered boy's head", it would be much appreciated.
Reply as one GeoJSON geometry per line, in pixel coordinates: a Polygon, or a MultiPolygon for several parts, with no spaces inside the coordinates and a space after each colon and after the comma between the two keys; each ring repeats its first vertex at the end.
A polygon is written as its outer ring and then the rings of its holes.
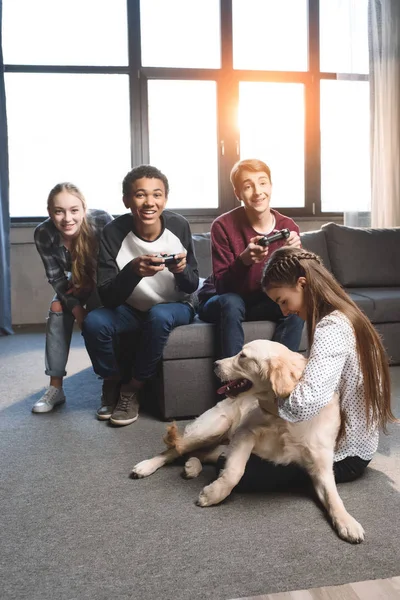
{"type": "Polygon", "coordinates": [[[304,206],[304,86],[240,83],[240,158],[271,169],[271,206],[304,206]]]}

